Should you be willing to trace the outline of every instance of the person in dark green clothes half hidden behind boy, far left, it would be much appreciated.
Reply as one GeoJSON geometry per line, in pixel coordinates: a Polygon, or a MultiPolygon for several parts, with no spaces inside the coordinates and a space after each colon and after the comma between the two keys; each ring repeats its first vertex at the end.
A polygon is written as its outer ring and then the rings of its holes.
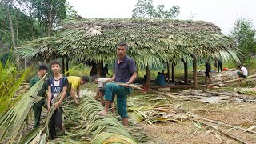
{"type": "MultiPolygon", "coordinates": [[[[30,80],[30,87],[34,86],[34,84],[36,84],[44,75],[46,75],[48,71],[48,66],[46,66],[45,64],[42,64],[39,66],[39,70],[38,70],[38,75],[34,76],[33,78],[31,78],[30,80]]],[[[46,104],[46,90],[47,90],[47,86],[46,86],[46,82],[43,83],[42,85],[42,89],[39,90],[38,92],[38,96],[42,97],[42,100],[35,103],[32,108],[34,111],[34,127],[38,127],[40,126],[40,116],[42,113],[42,106],[44,106],[46,104]]]]}

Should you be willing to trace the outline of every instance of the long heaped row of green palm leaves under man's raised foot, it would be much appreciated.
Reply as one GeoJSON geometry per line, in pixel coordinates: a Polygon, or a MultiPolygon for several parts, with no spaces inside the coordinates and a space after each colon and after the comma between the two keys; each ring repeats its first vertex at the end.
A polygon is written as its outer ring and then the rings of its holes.
{"type": "Polygon", "coordinates": [[[66,115],[66,134],[50,142],[137,143],[116,118],[98,115],[103,107],[90,95],[83,96],[78,107],[70,102],[62,107],[66,115]]]}

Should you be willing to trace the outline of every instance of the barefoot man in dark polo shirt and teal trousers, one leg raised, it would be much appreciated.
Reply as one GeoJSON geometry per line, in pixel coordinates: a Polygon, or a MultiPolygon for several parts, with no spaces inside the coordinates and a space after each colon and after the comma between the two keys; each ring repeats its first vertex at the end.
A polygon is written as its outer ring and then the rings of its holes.
{"type": "Polygon", "coordinates": [[[110,101],[113,99],[113,94],[117,95],[118,114],[122,118],[124,126],[128,126],[128,114],[126,105],[126,96],[130,94],[131,88],[128,87],[134,82],[137,77],[135,62],[132,58],[126,55],[127,45],[125,42],[119,42],[117,45],[118,59],[114,63],[114,75],[109,82],[122,82],[127,86],[120,86],[115,83],[107,83],[105,91],[105,107],[99,112],[100,115],[105,115],[109,110],[110,101]]]}

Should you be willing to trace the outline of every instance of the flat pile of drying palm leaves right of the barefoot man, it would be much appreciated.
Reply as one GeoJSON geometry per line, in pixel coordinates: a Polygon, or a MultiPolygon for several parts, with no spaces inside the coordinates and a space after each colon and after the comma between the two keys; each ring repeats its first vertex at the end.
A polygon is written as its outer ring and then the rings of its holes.
{"type": "Polygon", "coordinates": [[[170,99],[154,94],[138,95],[129,98],[131,117],[136,122],[181,122],[187,118],[186,110],[180,106],[168,104],[170,99]],[[143,100],[142,100],[143,99],[143,100]]]}

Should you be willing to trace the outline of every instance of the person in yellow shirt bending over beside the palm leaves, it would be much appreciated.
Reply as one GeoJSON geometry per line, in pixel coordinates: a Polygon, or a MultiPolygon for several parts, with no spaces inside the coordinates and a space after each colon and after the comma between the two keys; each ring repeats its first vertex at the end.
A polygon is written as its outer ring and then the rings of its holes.
{"type": "Polygon", "coordinates": [[[77,90],[78,98],[80,98],[80,86],[89,82],[89,78],[87,76],[76,77],[76,76],[69,76],[67,77],[69,85],[71,86],[70,96],[73,98],[74,103],[78,105],[78,100],[75,98],[74,92],[77,90]]]}

